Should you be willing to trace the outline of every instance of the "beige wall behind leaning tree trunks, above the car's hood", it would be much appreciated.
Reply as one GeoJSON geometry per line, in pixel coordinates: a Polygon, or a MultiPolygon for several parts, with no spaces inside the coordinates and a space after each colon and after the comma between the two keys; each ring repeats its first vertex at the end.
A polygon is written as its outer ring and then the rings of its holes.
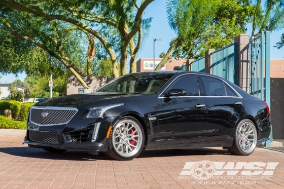
{"type": "MultiPolygon", "coordinates": [[[[82,79],[86,82],[87,86],[90,89],[97,89],[100,86],[107,84],[112,79],[100,79],[97,77],[82,77],[82,79]]],[[[69,94],[78,94],[78,88],[83,88],[80,82],[75,78],[74,75],[67,77],[67,95],[69,94]]]]}

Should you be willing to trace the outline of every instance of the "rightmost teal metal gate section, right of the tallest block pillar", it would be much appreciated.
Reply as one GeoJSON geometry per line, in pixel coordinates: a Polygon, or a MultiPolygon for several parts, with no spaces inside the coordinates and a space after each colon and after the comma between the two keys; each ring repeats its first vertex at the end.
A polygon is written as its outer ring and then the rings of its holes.
{"type": "MultiPolygon", "coordinates": [[[[250,94],[265,100],[270,109],[270,31],[262,31],[250,40],[250,94]]],[[[272,138],[272,129],[270,133],[272,138]]],[[[270,141],[265,145],[270,146],[270,141]]]]}

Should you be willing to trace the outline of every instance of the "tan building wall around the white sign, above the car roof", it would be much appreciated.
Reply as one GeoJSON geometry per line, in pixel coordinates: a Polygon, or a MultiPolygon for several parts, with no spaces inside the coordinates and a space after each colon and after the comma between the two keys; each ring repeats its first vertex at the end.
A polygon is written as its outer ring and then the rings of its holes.
{"type": "MultiPolygon", "coordinates": [[[[157,65],[162,58],[155,58],[155,65],[157,65]]],[[[153,62],[153,58],[140,58],[136,65],[137,65],[137,72],[143,72],[143,71],[153,71],[153,69],[144,69],[144,64],[148,62],[149,64],[153,62]]],[[[180,60],[175,60],[171,59],[165,64],[165,70],[173,70],[174,67],[181,67],[183,64],[186,64],[186,59],[180,59],[180,60]]],[[[149,65],[150,67],[150,65],[149,65]]],[[[163,69],[161,69],[163,70],[163,69]]]]}

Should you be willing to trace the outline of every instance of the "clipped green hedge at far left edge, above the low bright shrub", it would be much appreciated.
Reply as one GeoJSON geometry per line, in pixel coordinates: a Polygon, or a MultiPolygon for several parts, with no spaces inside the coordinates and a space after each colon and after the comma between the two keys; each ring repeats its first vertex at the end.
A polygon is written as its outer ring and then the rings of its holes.
{"type": "Polygon", "coordinates": [[[20,114],[21,102],[15,101],[15,100],[0,101],[0,115],[4,115],[5,109],[11,109],[12,118],[17,119],[19,117],[19,114],[20,114]]]}

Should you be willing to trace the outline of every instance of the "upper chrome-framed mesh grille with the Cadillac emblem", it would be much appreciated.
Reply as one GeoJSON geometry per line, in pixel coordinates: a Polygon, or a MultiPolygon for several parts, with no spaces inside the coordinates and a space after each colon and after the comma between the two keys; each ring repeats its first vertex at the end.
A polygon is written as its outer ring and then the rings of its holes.
{"type": "Polygon", "coordinates": [[[61,107],[62,109],[58,109],[57,107],[38,107],[32,107],[30,110],[30,121],[37,125],[67,124],[78,111],[76,108],[67,109],[61,107]]]}

